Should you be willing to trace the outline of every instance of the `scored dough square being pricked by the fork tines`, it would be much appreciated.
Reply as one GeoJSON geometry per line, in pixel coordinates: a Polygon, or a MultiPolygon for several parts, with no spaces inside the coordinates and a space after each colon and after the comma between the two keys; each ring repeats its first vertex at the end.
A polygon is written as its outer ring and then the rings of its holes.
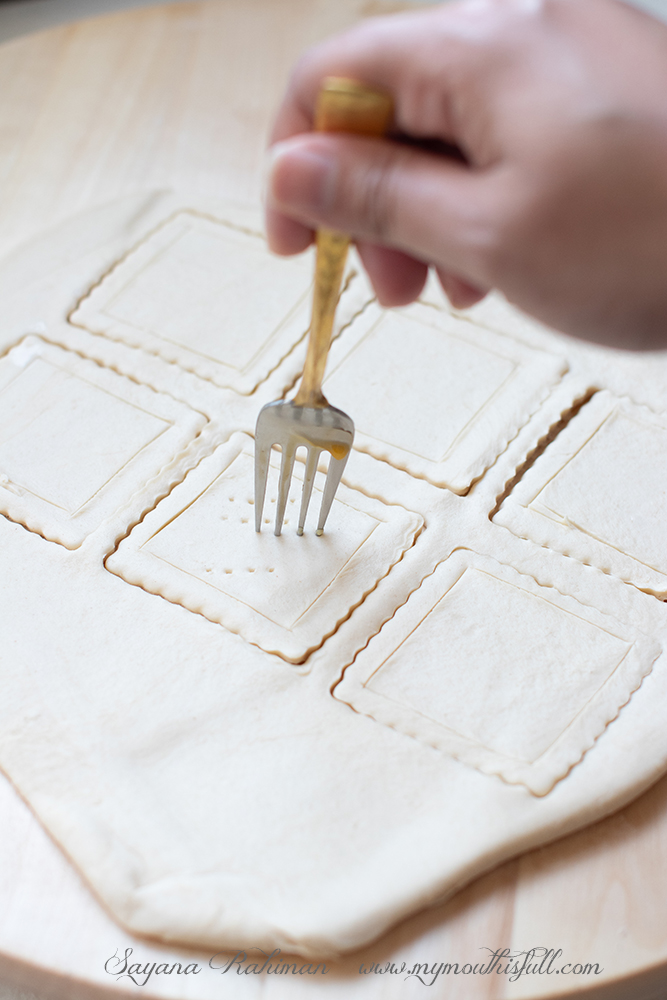
{"type": "Polygon", "coordinates": [[[324,535],[306,530],[299,537],[303,469],[297,463],[285,526],[276,537],[278,469],[274,454],[265,530],[257,533],[252,444],[235,434],[134,528],[107,559],[107,569],[269,653],[303,661],[386,576],[424,522],[341,484],[324,535]]]}

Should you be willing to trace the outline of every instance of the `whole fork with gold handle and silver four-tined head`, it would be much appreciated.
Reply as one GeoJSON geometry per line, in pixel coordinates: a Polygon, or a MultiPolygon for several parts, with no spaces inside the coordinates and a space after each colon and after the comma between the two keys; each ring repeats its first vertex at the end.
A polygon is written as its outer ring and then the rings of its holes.
{"type": "MultiPolygon", "coordinates": [[[[320,132],[353,132],[384,135],[392,115],[390,96],[355,80],[328,77],[318,96],[315,128],[320,132]]],[[[306,363],[301,385],[292,400],[277,400],[262,407],[255,428],[255,530],[261,531],[271,449],[281,449],[280,480],[274,534],[280,535],[285,518],[297,449],[306,448],[306,471],[301,493],[297,534],[303,534],[308,505],[320,455],[329,452],[317,535],[324,531],[331,504],[354,441],[354,423],[331,406],[322,392],[331,332],[345,259],[348,236],[320,229],[317,233],[315,288],[306,363]]]]}

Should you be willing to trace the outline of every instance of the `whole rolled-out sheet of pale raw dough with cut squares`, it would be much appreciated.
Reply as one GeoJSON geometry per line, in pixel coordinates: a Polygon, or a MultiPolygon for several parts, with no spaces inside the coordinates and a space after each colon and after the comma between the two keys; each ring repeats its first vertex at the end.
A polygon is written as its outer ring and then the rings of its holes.
{"type": "Polygon", "coordinates": [[[662,440],[667,363],[497,299],[385,315],[353,262],[327,392],[359,448],[322,539],[257,536],[248,435],[303,364],[311,264],[255,228],[151,196],[0,268],[0,763],[126,927],[322,956],[667,767],[667,609],[639,589],[663,564],[573,492],[607,489],[628,428],[662,440]],[[556,540],[519,537],[499,521],[587,407],[550,429],[605,388],[622,434],[603,415],[556,520],[529,511],[556,540]],[[563,531],[622,562],[564,556],[563,531]]]}

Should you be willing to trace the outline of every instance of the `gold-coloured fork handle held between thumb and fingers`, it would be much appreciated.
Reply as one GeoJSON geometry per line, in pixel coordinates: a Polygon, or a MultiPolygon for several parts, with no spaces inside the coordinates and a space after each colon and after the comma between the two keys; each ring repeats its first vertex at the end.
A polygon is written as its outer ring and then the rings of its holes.
{"type": "MultiPolygon", "coordinates": [[[[386,132],[392,112],[389,94],[356,80],[327,77],[318,96],[315,128],[318,132],[351,132],[379,138],[386,132]]],[[[310,336],[303,378],[294,397],[296,406],[328,405],[322,380],[350,245],[348,236],[331,229],[318,230],[316,242],[310,336]]]]}

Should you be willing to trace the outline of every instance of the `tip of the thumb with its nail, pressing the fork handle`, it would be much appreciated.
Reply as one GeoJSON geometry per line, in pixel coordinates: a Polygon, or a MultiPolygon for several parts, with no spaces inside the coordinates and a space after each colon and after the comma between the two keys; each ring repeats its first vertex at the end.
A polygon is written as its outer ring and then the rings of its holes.
{"type": "Polygon", "coordinates": [[[300,141],[279,142],[269,150],[267,193],[281,208],[319,213],[332,202],[336,164],[326,153],[300,146],[300,141]]]}

